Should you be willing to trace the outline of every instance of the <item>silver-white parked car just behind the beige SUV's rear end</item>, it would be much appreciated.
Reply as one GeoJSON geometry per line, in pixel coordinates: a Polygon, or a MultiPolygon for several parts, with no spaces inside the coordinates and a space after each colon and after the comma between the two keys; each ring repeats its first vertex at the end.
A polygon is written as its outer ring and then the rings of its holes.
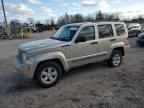
{"type": "Polygon", "coordinates": [[[138,36],[138,34],[141,32],[141,25],[138,23],[131,23],[128,26],[128,36],[138,36]]]}

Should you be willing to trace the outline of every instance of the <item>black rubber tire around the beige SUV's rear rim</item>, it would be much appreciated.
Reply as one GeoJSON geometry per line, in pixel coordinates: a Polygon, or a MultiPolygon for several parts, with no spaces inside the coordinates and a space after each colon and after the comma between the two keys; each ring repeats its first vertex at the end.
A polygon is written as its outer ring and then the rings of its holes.
{"type": "Polygon", "coordinates": [[[112,52],[109,60],[107,61],[107,65],[108,65],[109,67],[117,67],[117,66],[119,66],[119,65],[121,64],[121,62],[122,62],[122,53],[121,53],[121,51],[119,51],[119,50],[114,50],[114,51],[112,52]],[[114,64],[114,62],[113,62],[113,58],[114,58],[114,56],[115,56],[116,54],[118,54],[119,57],[120,57],[120,61],[119,61],[119,63],[118,63],[117,65],[114,64]]]}

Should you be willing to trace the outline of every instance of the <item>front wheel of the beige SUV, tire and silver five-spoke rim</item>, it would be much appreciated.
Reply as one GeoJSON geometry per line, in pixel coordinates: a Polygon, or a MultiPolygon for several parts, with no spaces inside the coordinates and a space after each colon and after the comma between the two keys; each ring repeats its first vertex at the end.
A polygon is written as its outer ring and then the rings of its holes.
{"type": "Polygon", "coordinates": [[[54,86],[61,75],[62,69],[60,65],[53,61],[42,63],[36,70],[36,80],[44,88],[54,86]]]}

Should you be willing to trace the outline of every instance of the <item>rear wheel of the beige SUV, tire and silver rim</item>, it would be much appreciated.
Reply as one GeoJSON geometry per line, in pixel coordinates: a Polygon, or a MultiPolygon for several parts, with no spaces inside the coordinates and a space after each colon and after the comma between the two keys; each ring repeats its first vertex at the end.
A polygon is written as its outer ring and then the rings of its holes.
{"type": "Polygon", "coordinates": [[[122,54],[118,50],[114,50],[111,54],[110,59],[107,61],[109,67],[117,67],[122,62],[122,54]]]}

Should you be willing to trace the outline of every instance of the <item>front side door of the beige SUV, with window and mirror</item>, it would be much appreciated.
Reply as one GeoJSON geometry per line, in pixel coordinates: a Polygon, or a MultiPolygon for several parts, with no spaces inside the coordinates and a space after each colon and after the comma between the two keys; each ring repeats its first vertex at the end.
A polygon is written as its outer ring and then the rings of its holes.
{"type": "Polygon", "coordinates": [[[83,27],[75,42],[69,48],[68,63],[70,68],[88,64],[96,60],[97,41],[95,26],[83,27]]]}

